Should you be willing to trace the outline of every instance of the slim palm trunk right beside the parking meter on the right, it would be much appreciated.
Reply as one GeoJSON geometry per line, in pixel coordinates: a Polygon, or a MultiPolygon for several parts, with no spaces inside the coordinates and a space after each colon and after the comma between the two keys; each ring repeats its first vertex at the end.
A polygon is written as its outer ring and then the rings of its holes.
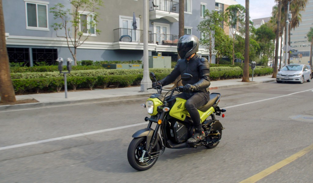
{"type": "Polygon", "coordinates": [[[244,74],[242,82],[250,82],[249,79],[249,0],[246,0],[246,33],[244,38],[244,74]]]}

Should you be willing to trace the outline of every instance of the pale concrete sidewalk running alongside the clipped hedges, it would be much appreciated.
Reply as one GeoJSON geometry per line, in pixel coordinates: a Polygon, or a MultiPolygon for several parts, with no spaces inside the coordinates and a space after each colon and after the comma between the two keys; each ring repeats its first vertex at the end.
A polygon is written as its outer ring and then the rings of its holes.
{"type": "MultiPolygon", "coordinates": [[[[272,75],[254,77],[253,82],[244,83],[241,82],[242,79],[228,79],[211,81],[210,91],[215,89],[231,88],[246,86],[251,84],[261,84],[274,82],[275,78],[271,78],[272,75]]],[[[252,78],[250,78],[252,81],[252,78]]],[[[168,85],[172,87],[173,85],[168,85]]],[[[29,95],[16,95],[17,100],[22,99],[36,99],[38,103],[29,104],[16,104],[16,105],[0,105],[1,110],[13,110],[13,109],[25,109],[34,107],[44,107],[50,105],[65,105],[74,103],[86,103],[86,102],[99,102],[99,101],[112,101],[121,99],[134,99],[148,97],[150,94],[155,93],[156,90],[152,92],[140,92],[140,87],[128,87],[128,88],[117,88],[117,89],[96,89],[96,90],[86,90],[77,92],[68,92],[68,98],[65,99],[64,92],[60,93],[48,93],[48,94],[29,94],[29,95]]]]}

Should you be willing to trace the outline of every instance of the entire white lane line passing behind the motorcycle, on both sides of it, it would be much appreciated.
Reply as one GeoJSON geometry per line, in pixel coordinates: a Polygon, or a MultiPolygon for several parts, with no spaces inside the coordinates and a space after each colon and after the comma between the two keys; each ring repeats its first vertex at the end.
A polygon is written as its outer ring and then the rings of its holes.
{"type": "MultiPolygon", "coordinates": [[[[253,103],[257,103],[257,102],[263,102],[266,100],[277,99],[280,97],[290,96],[293,94],[298,94],[298,93],[302,93],[302,92],[306,92],[306,91],[310,91],[310,90],[312,90],[312,89],[308,89],[308,90],[304,90],[304,91],[300,91],[300,92],[295,92],[295,93],[287,94],[287,95],[281,95],[281,96],[273,97],[273,98],[269,98],[269,99],[257,100],[254,102],[248,102],[248,103],[233,105],[233,106],[229,106],[229,107],[223,107],[223,108],[228,109],[228,108],[232,108],[232,107],[238,107],[238,106],[253,104],[253,103]]],[[[86,135],[93,135],[93,134],[98,134],[98,133],[103,133],[103,132],[113,131],[113,130],[121,130],[124,128],[140,126],[140,125],[145,125],[145,124],[147,125],[148,122],[138,123],[138,124],[134,124],[134,125],[120,126],[120,127],[116,127],[116,128],[109,128],[109,129],[104,129],[104,130],[96,130],[96,131],[91,131],[91,132],[81,133],[81,134],[67,135],[67,136],[63,136],[63,137],[56,137],[56,138],[46,139],[46,140],[38,140],[38,141],[34,141],[34,142],[28,142],[28,143],[17,144],[17,145],[9,145],[9,146],[0,147],[0,150],[13,149],[13,148],[17,148],[17,147],[23,147],[23,146],[34,145],[34,144],[41,144],[41,143],[52,142],[52,141],[56,141],[56,140],[69,139],[69,138],[74,138],[74,137],[81,137],[81,136],[86,136],[86,135]]]]}

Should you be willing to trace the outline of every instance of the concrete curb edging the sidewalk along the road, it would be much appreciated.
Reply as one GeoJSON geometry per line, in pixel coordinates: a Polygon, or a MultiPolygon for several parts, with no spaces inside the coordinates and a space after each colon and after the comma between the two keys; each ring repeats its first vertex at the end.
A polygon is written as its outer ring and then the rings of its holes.
{"type": "MultiPolygon", "coordinates": [[[[240,86],[248,86],[253,84],[262,84],[262,83],[270,83],[275,80],[261,81],[261,82],[250,82],[245,84],[233,84],[227,86],[218,86],[218,87],[210,87],[210,90],[217,89],[226,89],[240,86]]],[[[84,104],[84,103],[93,103],[93,102],[114,102],[125,99],[137,99],[143,97],[149,97],[151,94],[155,92],[136,94],[136,95],[126,95],[126,96],[118,96],[118,97],[105,97],[105,98],[96,98],[96,99],[81,99],[81,100],[67,100],[67,101],[55,101],[55,102],[37,102],[37,103],[28,103],[28,104],[15,104],[15,105],[3,105],[0,106],[1,111],[6,112],[10,110],[18,110],[18,109],[31,109],[31,108],[40,108],[40,107],[49,107],[49,106],[59,106],[59,105],[71,105],[71,104],[84,104]]]]}

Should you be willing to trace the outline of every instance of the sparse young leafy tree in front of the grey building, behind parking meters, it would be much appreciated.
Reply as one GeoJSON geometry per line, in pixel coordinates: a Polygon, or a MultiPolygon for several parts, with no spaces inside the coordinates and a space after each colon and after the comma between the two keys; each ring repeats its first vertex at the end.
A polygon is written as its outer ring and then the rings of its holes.
{"type": "Polygon", "coordinates": [[[74,58],[74,64],[77,65],[76,53],[77,47],[82,45],[91,35],[91,33],[99,34],[100,30],[95,28],[98,23],[98,6],[102,6],[102,0],[69,0],[73,10],[64,9],[62,3],[57,3],[54,7],[50,8],[50,13],[53,13],[54,19],[60,20],[60,23],[54,23],[51,27],[56,31],[57,37],[65,38],[67,46],[74,58]],[[81,19],[81,11],[88,12],[87,16],[91,17],[90,21],[81,19]],[[82,29],[83,28],[83,29],[82,29]],[[58,35],[58,30],[64,30],[64,35],[58,35]],[[87,33],[87,35],[83,35],[87,33]],[[74,47],[74,53],[70,48],[70,44],[74,47]]]}

